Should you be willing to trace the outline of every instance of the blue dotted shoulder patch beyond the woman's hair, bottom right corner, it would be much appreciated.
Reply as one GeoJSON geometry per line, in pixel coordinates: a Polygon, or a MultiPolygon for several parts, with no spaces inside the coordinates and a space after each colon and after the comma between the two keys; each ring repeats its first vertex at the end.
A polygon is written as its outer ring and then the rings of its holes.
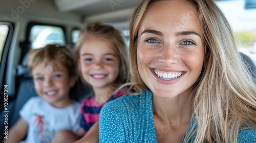
{"type": "Polygon", "coordinates": [[[256,142],[256,130],[249,127],[239,130],[238,142],[256,142]]]}

